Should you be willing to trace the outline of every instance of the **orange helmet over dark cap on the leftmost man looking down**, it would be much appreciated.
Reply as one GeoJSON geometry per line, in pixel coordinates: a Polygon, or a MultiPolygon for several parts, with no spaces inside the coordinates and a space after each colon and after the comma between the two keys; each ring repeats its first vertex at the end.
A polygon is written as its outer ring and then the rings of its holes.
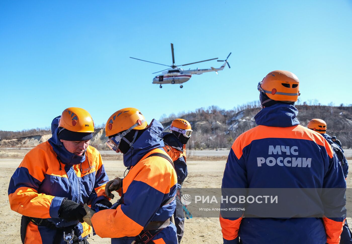
{"type": "Polygon", "coordinates": [[[89,112],[81,108],[67,108],[62,112],[59,126],[72,132],[94,132],[94,122],[89,112]]]}

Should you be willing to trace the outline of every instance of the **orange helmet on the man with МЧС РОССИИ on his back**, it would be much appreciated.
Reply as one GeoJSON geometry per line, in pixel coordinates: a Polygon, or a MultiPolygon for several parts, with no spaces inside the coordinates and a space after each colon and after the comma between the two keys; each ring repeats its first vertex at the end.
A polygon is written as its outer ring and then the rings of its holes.
{"type": "Polygon", "coordinates": [[[297,102],[300,95],[299,83],[294,73],[276,70],[259,82],[258,90],[275,101],[297,102]]]}

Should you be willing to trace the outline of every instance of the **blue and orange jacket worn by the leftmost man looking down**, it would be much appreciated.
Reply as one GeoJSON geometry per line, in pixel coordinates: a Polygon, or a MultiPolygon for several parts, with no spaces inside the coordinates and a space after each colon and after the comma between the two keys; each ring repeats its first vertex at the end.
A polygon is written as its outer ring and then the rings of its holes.
{"type": "MultiPolygon", "coordinates": [[[[106,197],[108,177],[98,150],[88,146],[84,157],[76,158],[60,146],[57,133],[58,129],[49,141],[25,155],[11,177],[8,198],[11,209],[22,215],[48,219],[57,227],[76,225],[75,235],[82,240],[92,228],[85,222],[59,218],[61,203],[67,197],[82,205],[94,206],[96,201],[106,197]]],[[[30,222],[25,243],[52,243],[55,233],[56,230],[30,222]]],[[[61,242],[65,243],[63,238],[61,242]]]]}

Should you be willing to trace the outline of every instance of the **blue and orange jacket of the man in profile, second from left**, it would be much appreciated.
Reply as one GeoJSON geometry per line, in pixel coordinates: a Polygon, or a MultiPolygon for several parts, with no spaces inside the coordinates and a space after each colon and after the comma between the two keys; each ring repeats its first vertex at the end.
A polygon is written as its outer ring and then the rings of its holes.
{"type": "MultiPolygon", "coordinates": [[[[130,171],[122,181],[122,204],[117,209],[99,211],[92,217],[95,233],[113,238],[113,244],[130,244],[150,221],[165,221],[175,212],[175,200],[163,205],[176,195],[174,167],[165,158],[148,157],[152,153],[168,157],[162,149],[162,131],[161,123],[153,120],[134,142],[133,148],[124,154],[124,165],[130,167],[130,171]]],[[[170,224],[153,237],[153,241],[177,244],[176,227],[170,224]]]]}

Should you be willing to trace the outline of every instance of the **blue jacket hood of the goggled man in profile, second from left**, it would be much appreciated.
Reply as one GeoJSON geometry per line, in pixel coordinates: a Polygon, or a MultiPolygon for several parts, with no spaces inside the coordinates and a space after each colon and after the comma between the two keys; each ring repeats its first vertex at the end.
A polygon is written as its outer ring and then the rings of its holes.
{"type": "Polygon", "coordinates": [[[155,148],[164,147],[165,144],[162,139],[163,130],[164,127],[162,124],[153,119],[142,135],[133,143],[133,149],[130,148],[124,154],[124,165],[126,167],[134,166],[147,152],[155,148]]]}

